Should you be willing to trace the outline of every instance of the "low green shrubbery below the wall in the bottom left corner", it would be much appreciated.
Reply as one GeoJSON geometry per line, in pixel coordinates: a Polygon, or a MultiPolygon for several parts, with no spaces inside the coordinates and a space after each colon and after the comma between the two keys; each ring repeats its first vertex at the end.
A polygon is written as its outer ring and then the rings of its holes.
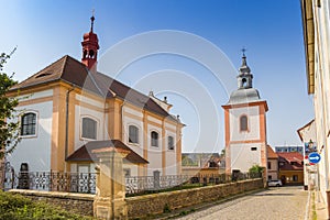
{"type": "Polygon", "coordinates": [[[21,195],[0,191],[0,220],[12,219],[92,219],[70,213],[45,202],[32,201],[21,195]]]}

